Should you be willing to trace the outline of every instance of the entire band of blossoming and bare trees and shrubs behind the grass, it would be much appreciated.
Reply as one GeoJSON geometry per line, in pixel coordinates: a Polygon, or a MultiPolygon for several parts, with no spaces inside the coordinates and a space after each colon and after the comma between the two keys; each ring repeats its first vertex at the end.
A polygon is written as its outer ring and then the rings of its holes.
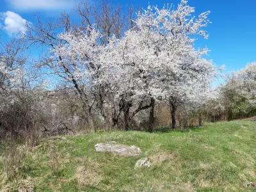
{"type": "Polygon", "coordinates": [[[198,125],[255,115],[255,63],[212,88],[220,71],[206,59],[207,49],[195,47],[197,38],[208,38],[209,12],[195,15],[186,0],[136,12],[83,1],[75,12],[76,20],[68,13],[38,18],[26,33],[2,43],[1,136],[35,138],[38,129],[49,131],[74,114],[84,126],[125,131],[146,119],[153,131],[159,104],[168,106],[172,129],[182,125],[179,111],[198,125]],[[28,60],[35,49],[42,50],[40,58],[28,60]],[[57,91],[67,107],[58,108],[63,119],[49,111],[49,94],[57,91]]]}

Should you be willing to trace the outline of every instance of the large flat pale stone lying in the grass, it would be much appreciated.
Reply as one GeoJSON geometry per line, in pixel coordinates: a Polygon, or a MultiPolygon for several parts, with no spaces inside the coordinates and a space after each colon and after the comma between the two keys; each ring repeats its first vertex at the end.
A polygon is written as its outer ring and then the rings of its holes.
{"type": "Polygon", "coordinates": [[[118,154],[119,156],[140,156],[141,150],[134,145],[121,145],[115,141],[110,143],[98,143],[95,145],[97,152],[109,152],[112,154],[118,154]]]}

